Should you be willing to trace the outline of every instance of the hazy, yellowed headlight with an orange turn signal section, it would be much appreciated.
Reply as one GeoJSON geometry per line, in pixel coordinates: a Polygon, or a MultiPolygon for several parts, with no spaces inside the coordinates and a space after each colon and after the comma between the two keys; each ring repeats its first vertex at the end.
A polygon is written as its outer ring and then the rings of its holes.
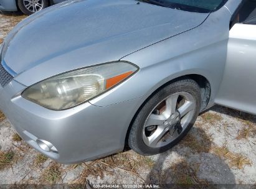
{"type": "Polygon", "coordinates": [[[21,95],[48,109],[69,109],[113,88],[137,70],[131,63],[105,63],[53,76],[30,86],[21,95]]]}

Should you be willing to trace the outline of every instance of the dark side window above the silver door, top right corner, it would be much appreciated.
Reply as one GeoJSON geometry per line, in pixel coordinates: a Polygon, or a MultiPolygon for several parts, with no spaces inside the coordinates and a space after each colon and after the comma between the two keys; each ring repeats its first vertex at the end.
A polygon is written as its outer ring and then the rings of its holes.
{"type": "Polygon", "coordinates": [[[256,24],[256,0],[245,0],[235,11],[230,21],[230,28],[237,24],[256,24]]]}

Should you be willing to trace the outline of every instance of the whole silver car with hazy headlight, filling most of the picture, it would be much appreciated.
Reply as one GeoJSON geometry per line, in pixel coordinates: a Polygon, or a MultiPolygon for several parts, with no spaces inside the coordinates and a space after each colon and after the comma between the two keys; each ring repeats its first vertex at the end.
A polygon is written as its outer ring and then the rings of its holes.
{"type": "MultiPolygon", "coordinates": [[[[1,50],[0,109],[64,164],[171,149],[201,111],[256,113],[256,1],[67,1],[1,50]]],[[[202,144],[203,145],[203,144],[202,144]]]]}

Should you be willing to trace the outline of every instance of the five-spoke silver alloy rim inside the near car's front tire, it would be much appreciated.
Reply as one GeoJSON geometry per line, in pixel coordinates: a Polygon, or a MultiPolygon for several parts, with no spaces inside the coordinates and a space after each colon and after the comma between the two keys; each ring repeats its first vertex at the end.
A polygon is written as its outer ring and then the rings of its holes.
{"type": "Polygon", "coordinates": [[[143,142],[153,148],[170,144],[189,125],[195,108],[196,101],[190,93],[174,93],[163,99],[145,121],[143,142]]]}

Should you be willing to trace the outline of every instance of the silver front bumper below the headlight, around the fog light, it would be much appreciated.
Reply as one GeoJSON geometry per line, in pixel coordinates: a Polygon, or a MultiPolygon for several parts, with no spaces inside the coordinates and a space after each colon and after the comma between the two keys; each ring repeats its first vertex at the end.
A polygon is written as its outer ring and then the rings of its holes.
{"type": "Polygon", "coordinates": [[[99,107],[85,103],[65,111],[52,111],[21,97],[26,86],[15,80],[0,86],[0,109],[22,139],[42,154],[62,164],[97,159],[123,150],[128,126],[140,98],[99,107]],[[45,152],[42,139],[58,150],[45,152]]]}

